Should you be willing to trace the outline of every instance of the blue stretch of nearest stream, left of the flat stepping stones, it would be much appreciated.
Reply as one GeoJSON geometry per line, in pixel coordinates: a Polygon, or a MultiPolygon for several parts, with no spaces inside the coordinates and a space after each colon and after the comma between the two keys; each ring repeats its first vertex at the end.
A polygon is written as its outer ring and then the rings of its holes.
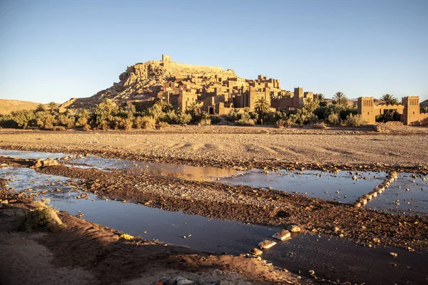
{"type": "Polygon", "coordinates": [[[44,175],[35,170],[6,167],[0,170],[0,174],[1,177],[13,177],[14,181],[9,182],[9,187],[14,187],[16,191],[28,188],[54,190],[39,196],[39,199],[49,198],[56,209],[73,215],[81,211],[84,214],[82,219],[128,234],[141,235],[144,239],[161,239],[162,242],[208,252],[241,254],[278,231],[275,227],[209,219],[110,199],[106,201],[96,195],[89,195],[88,199],[74,199],[82,192],[76,192],[66,185],[67,178],[44,175]],[[57,189],[61,192],[56,192],[57,189]],[[191,237],[188,237],[190,234],[191,237]]]}

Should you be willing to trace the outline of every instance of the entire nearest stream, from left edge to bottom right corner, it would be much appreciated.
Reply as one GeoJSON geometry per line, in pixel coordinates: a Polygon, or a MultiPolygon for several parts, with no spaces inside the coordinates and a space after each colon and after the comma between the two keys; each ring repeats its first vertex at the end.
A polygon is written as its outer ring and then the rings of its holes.
{"type": "MultiPolygon", "coordinates": [[[[54,207],[70,214],[81,211],[84,214],[82,219],[128,234],[141,235],[144,239],[160,239],[206,252],[246,253],[279,230],[168,212],[141,204],[106,201],[96,195],[89,195],[88,199],[75,199],[86,192],[76,190],[70,183],[72,180],[27,168],[5,167],[0,169],[0,176],[12,179],[9,187],[15,187],[18,191],[29,188],[32,191],[27,192],[49,190],[38,198],[49,198],[54,207]]],[[[424,261],[427,258],[427,252],[361,247],[344,239],[306,234],[293,234],[292,239],[278,242],[263,254],[263,259],[299,274],[308,275],[309,270],[315,270],[318,277],[359,283],[367,281],[367,284],[405,284],[406,281],[420,284],[426,279],[424,261]],[[389,256],[392,251],[398,253],[397,259],[389,256]]]]}

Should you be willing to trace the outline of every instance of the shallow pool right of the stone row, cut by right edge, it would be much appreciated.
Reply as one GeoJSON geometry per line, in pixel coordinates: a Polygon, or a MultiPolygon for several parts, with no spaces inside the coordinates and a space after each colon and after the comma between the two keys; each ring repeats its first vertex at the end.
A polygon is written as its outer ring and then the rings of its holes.
{"type": "Polygon", "coordinates": [[[400,173],[387,190],[366,207],[405,214],[428,215],[428,175],[400,173]],[[425,181],[423,180],[425,178],[425,181]],[[414,182],[413,182],[414,181],[414,182]],[[407,191],[407,189],[409,191],[407,191]]]}

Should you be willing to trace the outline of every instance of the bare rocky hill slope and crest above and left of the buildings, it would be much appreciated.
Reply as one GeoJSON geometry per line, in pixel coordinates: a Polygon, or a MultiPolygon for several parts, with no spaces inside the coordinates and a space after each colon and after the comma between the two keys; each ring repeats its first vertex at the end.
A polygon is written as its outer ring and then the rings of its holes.
{"type": "Polygon", "coordinates": [[[119,82],[88,98],[72,98],[60,106],[61,110],[91,108],[109,98],[117,103],[127,100],[150,100],[161,90],[163,83],[188,75],[238,77],[233,70],[213,66],[194,66],[174,61],[148,61],[128,66],[119,82]]]}

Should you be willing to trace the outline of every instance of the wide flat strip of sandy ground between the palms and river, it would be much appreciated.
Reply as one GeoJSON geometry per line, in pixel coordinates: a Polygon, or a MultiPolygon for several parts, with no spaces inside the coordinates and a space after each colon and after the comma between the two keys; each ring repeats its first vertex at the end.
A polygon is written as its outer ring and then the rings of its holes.
{"type": "Polygon", "coordinates": [[[254,161],[319,164],[426,165],[428,128],[397,127],[385,133],[233,126],[174,126],[151,132],[11,132],[0,147],[62,152],[123,152],[187,164],[231,166],[254,161]],[[192,162],[193,163],[190,163],[192,162]]]}

